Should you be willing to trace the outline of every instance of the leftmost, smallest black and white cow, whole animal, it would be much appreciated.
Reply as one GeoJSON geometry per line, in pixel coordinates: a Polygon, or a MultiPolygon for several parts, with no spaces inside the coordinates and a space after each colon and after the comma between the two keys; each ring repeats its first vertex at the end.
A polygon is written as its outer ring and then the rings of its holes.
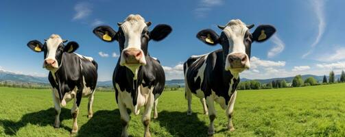
{"type": "Polygon", "coordinates": [[[27,46],[36,52],[44,52],[43,68],[49,71],[49,82],[52,86],[53,102],[56,116],[54,127],[60,127],[61,106],[74,99],[71,114],[73,128],[71,133],[78,132],[77,117],[82,97],[88,97],[88,117],[93,116],[93,95],[97,83],[97,63],[93,58],[73,53],[78,49],[77,42],[62,40],[52,34],[45,43],[32,40],[27,46]]]}

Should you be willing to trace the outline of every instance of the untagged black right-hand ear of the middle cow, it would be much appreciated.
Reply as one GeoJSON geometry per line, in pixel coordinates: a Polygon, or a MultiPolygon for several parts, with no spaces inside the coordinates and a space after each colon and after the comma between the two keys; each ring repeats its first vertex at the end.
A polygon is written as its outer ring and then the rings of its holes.
{"type": "Polygon", "coordinates": [[[150,32],[150,39],[155,41],[163,40],[171,33],[171,31],[172,29],[169,25],[156,25],[156,27],[154,27],[154,29],[150,32]]]}

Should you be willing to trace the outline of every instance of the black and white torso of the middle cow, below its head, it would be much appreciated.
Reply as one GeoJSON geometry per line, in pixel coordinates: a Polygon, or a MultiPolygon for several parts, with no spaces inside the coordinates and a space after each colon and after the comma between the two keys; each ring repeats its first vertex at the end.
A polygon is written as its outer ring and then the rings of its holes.
{"type": "MultiPolygon", "coordinates": [[[[112,84],[116,91],[117,103],[126,105],[134,114],[139,114],[139,109],[145,105],[158,101],[158,97],[164,90],[165,74],[163,67],[158,60],[154,60],[150,55],[145,57],[146,65],[138,70],[137,78],[126,66],[120,66],[119,62],[112,76],[112,84]]],[[[156,103],[154,105],[156,108],[156,103]]],[[[146,114],[147,112],[144,112],[146,114]]],[[[150,116],[150,114],[147,114],[150,116]]],[[[154,118],[157,117],[157,111],[154,110],[154,118]]]]}

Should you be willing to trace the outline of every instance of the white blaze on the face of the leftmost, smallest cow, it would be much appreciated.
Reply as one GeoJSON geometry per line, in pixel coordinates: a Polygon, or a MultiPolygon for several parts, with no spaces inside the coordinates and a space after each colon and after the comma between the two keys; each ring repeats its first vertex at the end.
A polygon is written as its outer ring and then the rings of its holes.
{"type": "MultiPolygon", "coordinates": [[[[58,46],[62,43],[62,39],[60,36],[56,34],[51,34],[50,38],[45,41],[47,44],[47,56],[45,57],[45,60],[54,60],[55,62],[58,62],[56,60],[56,50],[58,49],[58,46]]],[[[43,67],[45,65],[43,64],[43,67]]],[[[53,64],[53,67],[58,69],[58,63],[53,64]]]]}

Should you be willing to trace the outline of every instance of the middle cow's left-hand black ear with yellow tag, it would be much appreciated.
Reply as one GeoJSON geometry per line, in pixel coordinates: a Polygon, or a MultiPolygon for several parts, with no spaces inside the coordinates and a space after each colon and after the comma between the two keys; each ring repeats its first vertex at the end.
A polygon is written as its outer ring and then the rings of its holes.
{"type": "Polygon", "coordinates": [[[93,34],[95,34],[101,40],[105,42],[112,42],[117,40],[117,35],[114,29],[110,26],[102,25],[93,29],[93,34]]]}

